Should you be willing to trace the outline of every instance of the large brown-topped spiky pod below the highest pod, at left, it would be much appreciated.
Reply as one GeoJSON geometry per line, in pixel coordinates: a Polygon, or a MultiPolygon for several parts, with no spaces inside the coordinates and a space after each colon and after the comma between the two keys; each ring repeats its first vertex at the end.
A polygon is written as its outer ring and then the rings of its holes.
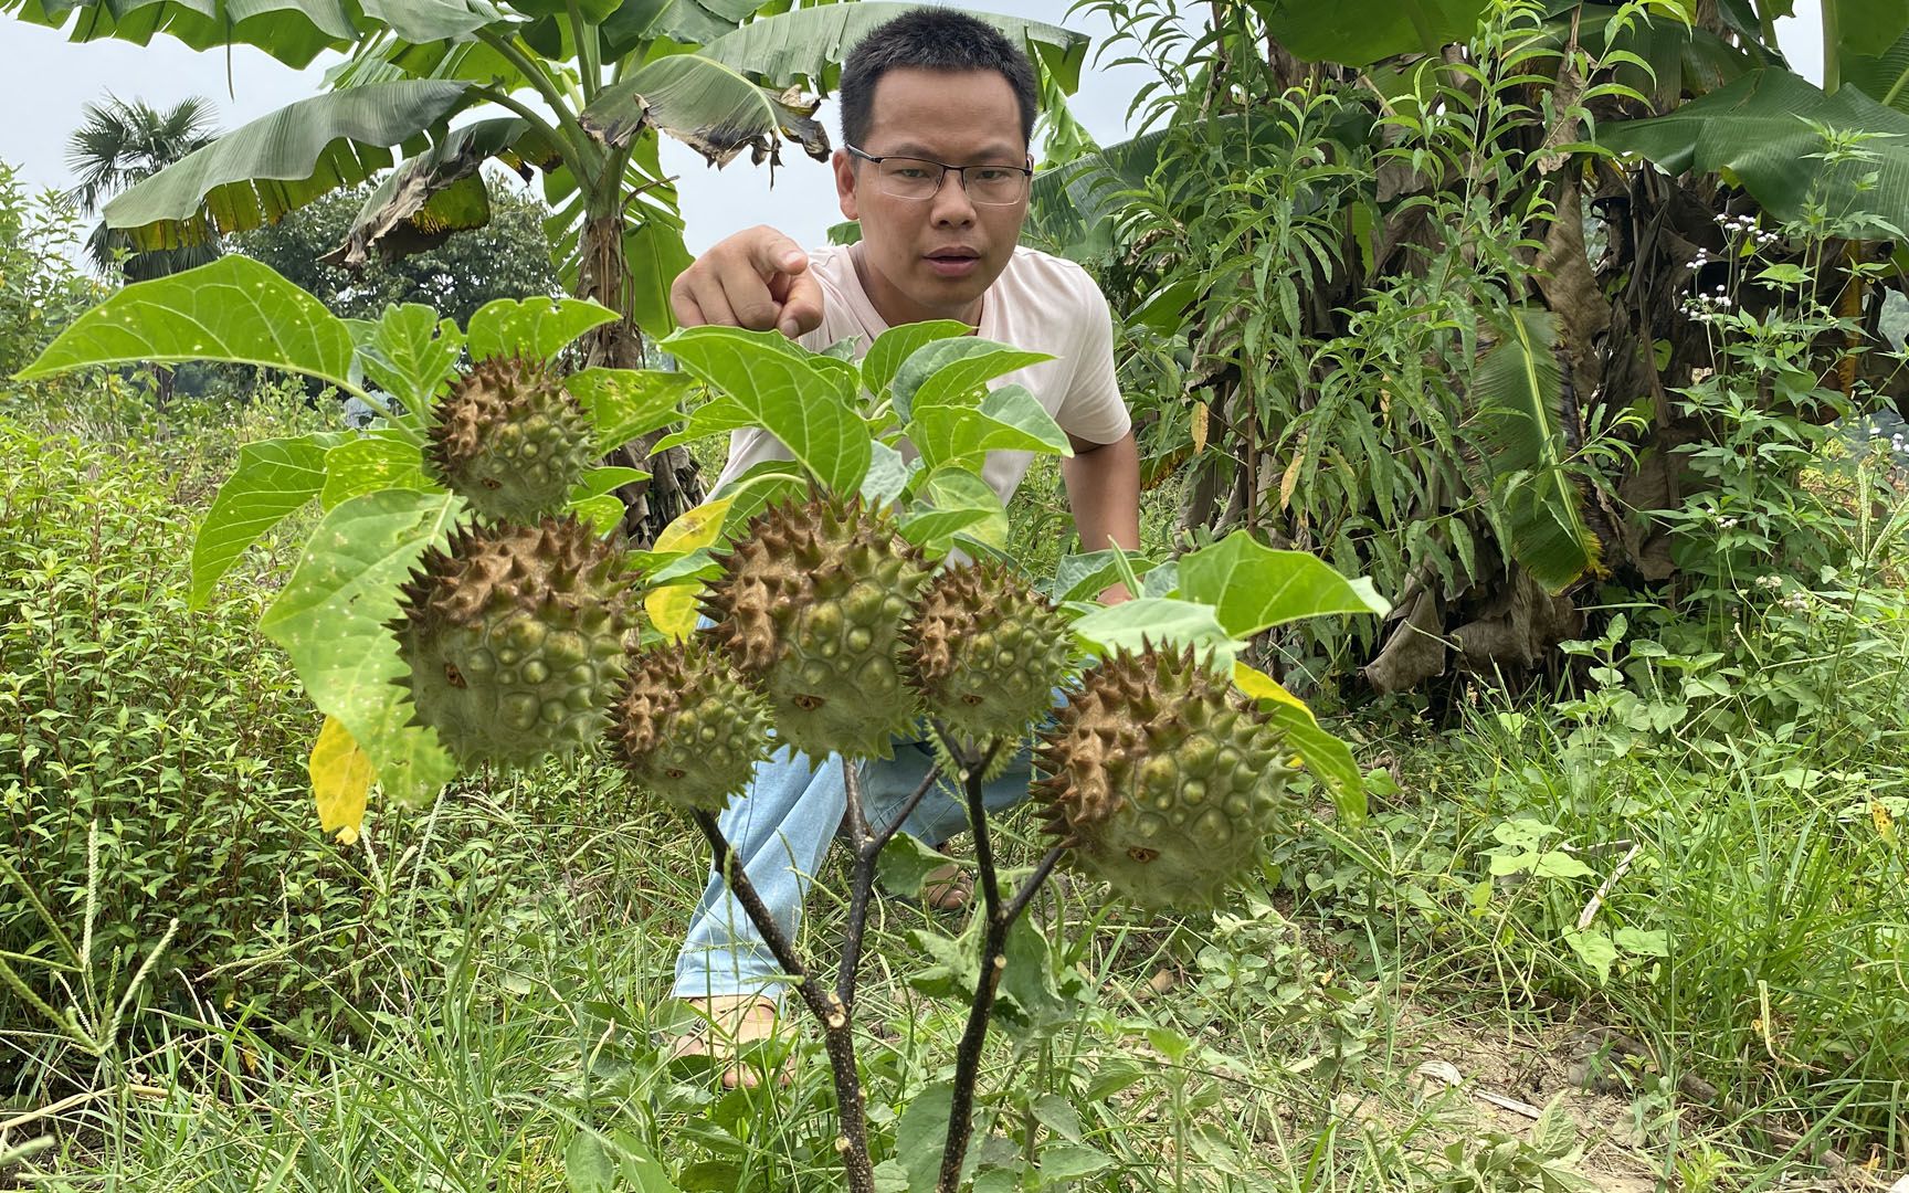
{"type": "Polygon", "coordinates": [[[533,765],[601,737],[632,622],[622,559],[586,523],[464,527],[403,586],[395,683],[460,764],[533,765]]]}

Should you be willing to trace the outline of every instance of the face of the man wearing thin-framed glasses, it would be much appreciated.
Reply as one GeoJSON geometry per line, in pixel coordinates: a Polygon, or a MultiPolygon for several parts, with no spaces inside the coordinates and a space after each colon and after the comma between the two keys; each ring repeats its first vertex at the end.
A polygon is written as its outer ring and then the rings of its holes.
{"type": "MultiPolygon", "coordinates": [[[[995,71],[897,69],[874,86],[863,149],[874,157],[922,157],[951,166],[1025,166],[1021,109],[995,71]]],[[[981,294],[1008,267],[1027,199],[970,200],[949,174],[930,199],[882,191],[876,166],[834,155],[842,214],[861,220],[855,265],[876,311],[890,323],[975,323],[981,294]]]]}

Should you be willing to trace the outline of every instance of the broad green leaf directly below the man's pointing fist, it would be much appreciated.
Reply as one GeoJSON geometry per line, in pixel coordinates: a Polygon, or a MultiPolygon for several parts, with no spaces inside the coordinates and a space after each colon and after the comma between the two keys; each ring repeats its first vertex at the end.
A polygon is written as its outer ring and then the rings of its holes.
{"type": "Polygon", "coordinates": [[[836,492],[855,492],[872,456],[869,426],[855,410],[855,370],[840,370],[777,332],[733,326],[683,328],[662,342],[678,363],[722,389],[752,426],[836,492]]]}

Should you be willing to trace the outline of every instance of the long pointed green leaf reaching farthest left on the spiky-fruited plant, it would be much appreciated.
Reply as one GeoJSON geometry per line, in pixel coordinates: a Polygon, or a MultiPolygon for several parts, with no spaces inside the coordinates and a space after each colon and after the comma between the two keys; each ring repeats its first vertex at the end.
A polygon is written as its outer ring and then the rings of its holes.
{"type": "Polygon", "coordinates": [[[223,361],[349,386],[351,330],[250,258],[126,286],[73,321],[21,380],[92,365],[223,361]]]}

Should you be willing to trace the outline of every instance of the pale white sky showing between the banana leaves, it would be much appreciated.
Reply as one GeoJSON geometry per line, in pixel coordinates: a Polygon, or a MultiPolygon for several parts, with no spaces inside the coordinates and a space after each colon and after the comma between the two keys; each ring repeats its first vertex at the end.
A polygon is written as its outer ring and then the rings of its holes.
{"type": "MultiPolygon", "coordinates": [[[[998,4],[1000,0],[996,0],[998,4]]],[[[1096,38],[1109,32],[1098,13],[1067,19],[1069,0],[1016,0],[1016,15],[1079,29],[1096,38]]],[[[1793,65],[1821,80],[1819,0],[1796,0],[1796,17],[1779,21],[1779,36],[1793,65]]],[[[0,17],[0,52],[11,63],[0,73],[0,160],[13,164],[31,189],[69,187],[65,164],[67,136],[80,124],[80,109],[107,92],[122,99],[143,99],[170,107],[187,95],[214,101],[220,124],[237,128],[321,90],[321,73],[330,57],[305,71],[292,71],[248,46],[227,52],[195,53],[183,44],[155,36],[151,46],[128,42],[71,44],[65,34],[0,17]]],[[[1101,143],[1122,139],[1126,107],[1145,80],[1138,67],[1082,73],[1073,111],[1101,143]]],[[[834,105],[821,111],[836,141],[834,105]]],[[[800,151],[783,155],[775,189],[767,168],[752,168],[746,155],[716,172],[687,147],[664,137],[664,166],[682,178],[687,241],[701,252],[722,237],[754,223],[773,223],[798,242],[821,244],[825,229],[840,220],[834,185],[821,162],[800,151]]]]}

